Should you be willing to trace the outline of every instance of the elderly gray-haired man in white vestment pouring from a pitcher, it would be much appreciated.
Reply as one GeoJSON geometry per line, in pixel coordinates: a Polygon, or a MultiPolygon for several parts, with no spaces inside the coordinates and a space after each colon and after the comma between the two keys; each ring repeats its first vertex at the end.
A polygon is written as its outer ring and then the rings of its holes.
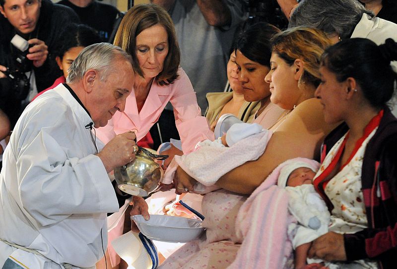
{"type": "MultiPolygon", "coordinates": [[[[3,155],[0,268],[94,268],[107,247],[106,216],[119,210],[108,177],[131,162],[133,132],[106,146],[92,133],[123,111],[131,57],[107,43],[85,48],[66,84],[29,104],[3,155]]],[[[135,212],[147,205],[133,197],[135,212]]]]}

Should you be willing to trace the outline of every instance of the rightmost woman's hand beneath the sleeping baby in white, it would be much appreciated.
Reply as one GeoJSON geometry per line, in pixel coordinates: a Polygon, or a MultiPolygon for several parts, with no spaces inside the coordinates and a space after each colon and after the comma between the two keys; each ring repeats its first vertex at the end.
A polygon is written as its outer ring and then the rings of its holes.
{"type": "Polygon", "coordinates": [[[308,257],[320,258],[324,261],[346,261],[343,235],[328,232],[320,236],[313,241],[308,257]]]}

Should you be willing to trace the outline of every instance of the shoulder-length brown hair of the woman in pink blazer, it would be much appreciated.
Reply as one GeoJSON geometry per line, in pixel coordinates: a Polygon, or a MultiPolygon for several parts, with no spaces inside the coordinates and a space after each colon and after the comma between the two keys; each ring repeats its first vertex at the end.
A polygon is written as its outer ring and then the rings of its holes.
{"type": "Polygon", "coordinates": [[[168,54],[164,60],[163,70],[156,76],[159,85],[172,84],[178,78],[181,59],[174,23],[168,12],[157,4],[137,4],[130,8],[117,30],[114,45],[123,48],[132,56],[134,72],[143,77],[136,57],[136,36],[143,30],[161,24],[168,35],[168,54]]]}

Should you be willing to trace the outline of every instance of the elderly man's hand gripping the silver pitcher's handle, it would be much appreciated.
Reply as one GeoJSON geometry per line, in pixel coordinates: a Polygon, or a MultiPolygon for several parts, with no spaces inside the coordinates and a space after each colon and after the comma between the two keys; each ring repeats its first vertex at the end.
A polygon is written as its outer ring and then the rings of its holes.
{"type": "Polygon", "coordinates": [[[103,149],[97,154],[106,172],[110,173],[116,167],[126,165],[135,159],[135,133],[129,131],[124,134],[116,135],[103,149]]]}

